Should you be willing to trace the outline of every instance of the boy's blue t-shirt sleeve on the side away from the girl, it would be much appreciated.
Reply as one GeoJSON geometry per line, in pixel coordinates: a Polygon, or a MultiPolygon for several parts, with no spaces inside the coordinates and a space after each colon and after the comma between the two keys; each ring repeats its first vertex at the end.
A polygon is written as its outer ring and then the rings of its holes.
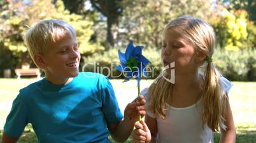
{"type": "Polygon", "coordinates": [[[24,95],[18,94],[16,99],[13,101],[10,113],[6,118],[4,125],[5,134],[10,137],[20,137],[28,123],[27,109],[24,95]]]}

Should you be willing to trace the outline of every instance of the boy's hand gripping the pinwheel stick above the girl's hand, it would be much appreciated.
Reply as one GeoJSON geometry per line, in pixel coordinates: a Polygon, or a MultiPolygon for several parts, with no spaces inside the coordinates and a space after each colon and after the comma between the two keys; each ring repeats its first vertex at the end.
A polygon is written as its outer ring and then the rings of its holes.
{"type": "Polygon", "coordinates": [[[139,114],[141,118],[146,115],[145,111],[146,100],[143,96],[139,96],[132,103],[127,104],[124,109],[124,120],[132,121],[132,124],[139,120],[139,114]]]}

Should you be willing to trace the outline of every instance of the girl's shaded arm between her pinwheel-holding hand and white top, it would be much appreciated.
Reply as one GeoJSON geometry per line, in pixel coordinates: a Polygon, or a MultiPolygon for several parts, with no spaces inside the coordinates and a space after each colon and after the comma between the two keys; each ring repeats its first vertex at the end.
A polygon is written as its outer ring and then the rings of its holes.
{"type": "Polygon", "coordinates": [[[145,123],[151,132],[151,142],[150,143],[157,142],[157,119],[146,115],[145,123]]]}

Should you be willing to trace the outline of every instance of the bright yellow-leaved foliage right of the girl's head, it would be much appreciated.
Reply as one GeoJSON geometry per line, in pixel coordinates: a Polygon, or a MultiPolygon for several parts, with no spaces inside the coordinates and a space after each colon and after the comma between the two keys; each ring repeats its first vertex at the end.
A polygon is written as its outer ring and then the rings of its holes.
{"type": "Polygon", "coordinates": [[[245,10],[227,11],[227,9],[222,9],[220,15],[212,18],[210,22],[215,29],[218,46],[232,51],[253,47],[256,35],[255,27],[247,19],[245,10]]]}

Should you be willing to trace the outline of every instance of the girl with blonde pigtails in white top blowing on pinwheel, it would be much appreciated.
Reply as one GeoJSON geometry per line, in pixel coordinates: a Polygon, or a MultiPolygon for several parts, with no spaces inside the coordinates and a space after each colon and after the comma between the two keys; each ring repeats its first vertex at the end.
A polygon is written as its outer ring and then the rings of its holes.
{"type": "Polygon", "coordinates": [[[145,122],[136,122],[133,142],[235,142],[229,98],[231,83],[212,63],[215,34],[203,20],[181,16],[164,28],[162,65],[174,66],[157,77],[145,96],[145,122]],[[175,75],[174,77],[171,75],[175,75]],[[174,78],[171,84],[169,78],[174,78]],[[151,133],[151,134],[150,134],[151,133]]]}

